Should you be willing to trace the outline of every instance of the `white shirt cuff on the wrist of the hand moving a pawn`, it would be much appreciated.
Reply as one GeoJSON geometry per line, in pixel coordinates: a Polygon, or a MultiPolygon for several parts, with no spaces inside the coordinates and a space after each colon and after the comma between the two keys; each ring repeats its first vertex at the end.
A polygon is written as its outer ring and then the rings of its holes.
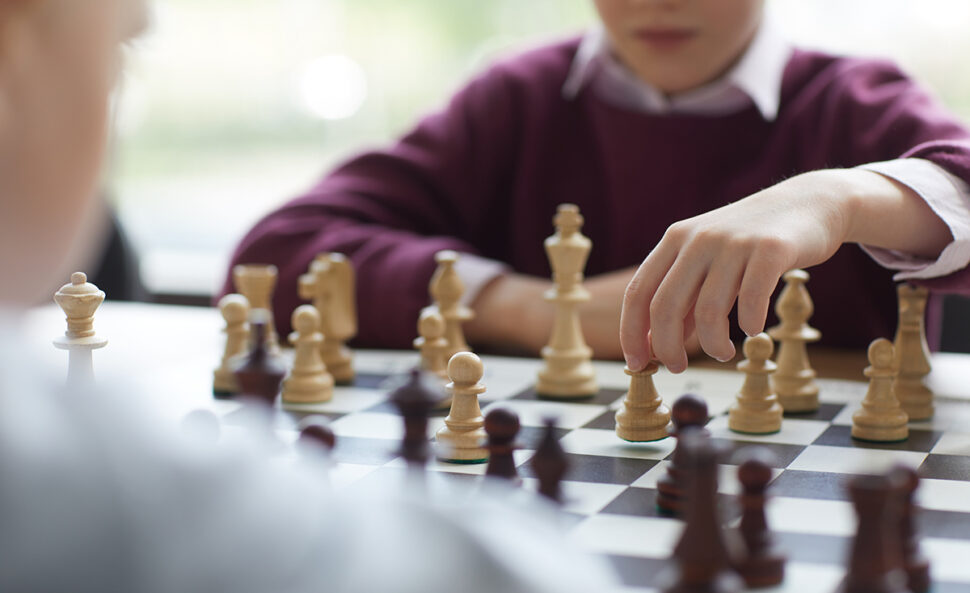
{"type": "Polygon", "coordinates": [[[936,260],[881,247],[860,245],[879,265],[899,270],[894,280],[928,279],[962,270],[970,263],[970,186],[936,163],[925,159],[896,159],[861,165],[909,187],[950,228],[953,241],[936,260]]]}

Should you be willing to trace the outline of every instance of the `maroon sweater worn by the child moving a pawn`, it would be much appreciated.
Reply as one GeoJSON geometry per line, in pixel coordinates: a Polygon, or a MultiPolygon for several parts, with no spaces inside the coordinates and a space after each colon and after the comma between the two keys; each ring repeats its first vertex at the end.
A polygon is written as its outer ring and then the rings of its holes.
{"type": "MultiPolygon", "coordinates": [[[[970,134],[888,62],[796,51],[778,117],[766,122],[754,106],[710,117],[627,111],[588,89],[565,100],[577,46],[493,66],[392,147],[351,159],[261,220],[233,263],[279,267],[280,329],[299,304],[297,276],[321,251],[347,254],[356,267],[357,342],[408,347],[435,252],[547,276],[542,241],[563,202],[586,218],[587,275],[595,275],[639,264],[673,222],[805,171],[919,157],[970,182],[970,134]]],[[[891,337],[891,271],[844,245],[811,274],[823,343],[891,337]]],[[[924,284],[968,290],[970,273],[924,284]]]]}

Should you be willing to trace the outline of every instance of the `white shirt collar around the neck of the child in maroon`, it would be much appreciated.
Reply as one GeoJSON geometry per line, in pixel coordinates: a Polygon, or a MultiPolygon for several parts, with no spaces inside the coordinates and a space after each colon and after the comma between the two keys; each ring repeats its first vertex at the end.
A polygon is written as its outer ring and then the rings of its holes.
{"type": "Polygon", "coordinates": [[[566,99],[573,99],[583,87],[591,85],[604,101],[646,113],[724,115],[754,103],[765,120],[774,121],[791,52],[791,45],[766,17],[741,59],[727,73],[702,87],[667,97],[614,57],[609,37],[600,26],[580,42],[562,93],[566,99]]]}

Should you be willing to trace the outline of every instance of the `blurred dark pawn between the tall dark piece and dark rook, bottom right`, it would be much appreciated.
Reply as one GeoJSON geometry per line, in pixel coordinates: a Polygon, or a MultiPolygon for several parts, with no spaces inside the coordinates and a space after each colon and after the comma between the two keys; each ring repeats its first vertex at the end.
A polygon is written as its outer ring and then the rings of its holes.
{"type": "Polygon", "coordinates": [[[741,482],[741,539],[744,552],[736,565],[738,574],[751,588],[778,585],[785,579],[785,556],[774,543],[765,517],[765,490],[771,481],[771,455],[752,448],[738,467],[741,482]]]}

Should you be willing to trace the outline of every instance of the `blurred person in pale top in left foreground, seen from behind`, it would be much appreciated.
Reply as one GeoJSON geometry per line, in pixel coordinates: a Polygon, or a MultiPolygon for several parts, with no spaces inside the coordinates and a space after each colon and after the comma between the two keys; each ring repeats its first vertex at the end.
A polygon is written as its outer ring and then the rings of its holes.
{"type": "Polygon", "coordinates": [[[87,248],[120,46],[145,21],[140,0],[0,2],[0,590],[427,592],[461,579],[463,591],[561,593],[608,582],[519,508],[531,500],[473,497],[461,511],[406,492],[351,502],[313,456],[274,460],[255,436],[244,449],[179,438],[119,385],[68,391],[36,372],[18,322],[87,248]]]}

